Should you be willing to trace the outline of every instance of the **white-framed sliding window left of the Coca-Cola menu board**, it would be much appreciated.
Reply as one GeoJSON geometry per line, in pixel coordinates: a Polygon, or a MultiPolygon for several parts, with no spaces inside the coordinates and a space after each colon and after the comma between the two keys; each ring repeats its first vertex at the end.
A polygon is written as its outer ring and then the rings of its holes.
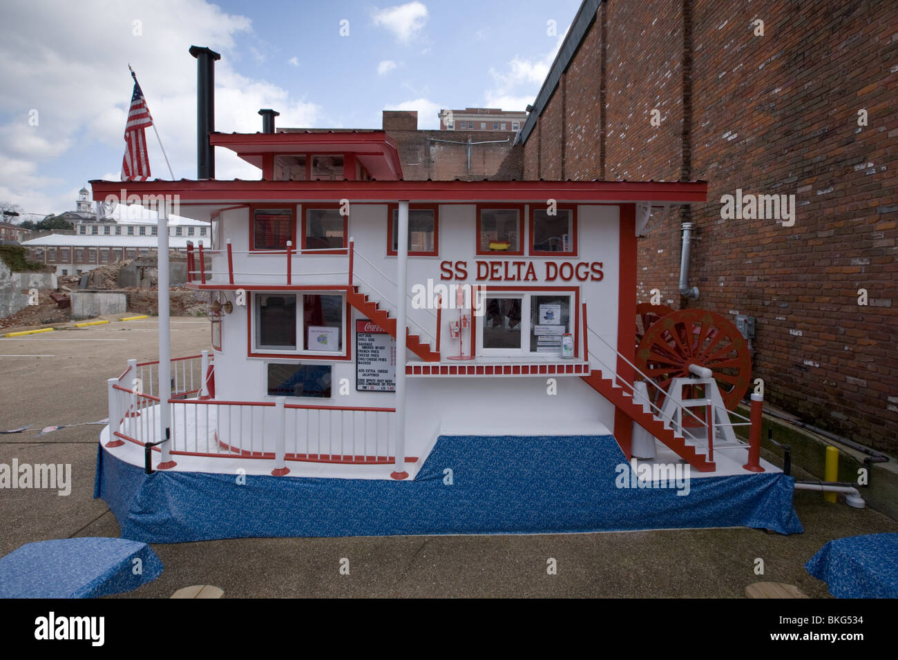
{"type": "Polygon", "coordinates": [[[257,293],[252,297],[251,355],[347,356],[344,294],[257,293]]]}

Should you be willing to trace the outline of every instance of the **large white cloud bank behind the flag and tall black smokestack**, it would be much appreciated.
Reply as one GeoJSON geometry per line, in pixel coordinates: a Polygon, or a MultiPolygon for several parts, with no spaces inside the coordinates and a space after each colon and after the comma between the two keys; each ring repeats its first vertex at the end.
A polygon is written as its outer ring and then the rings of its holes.
{"type": "MultiPolygon", "coordinates": [[[[251,36],[251,21],[205,0],[5,0],[3,11],[0,199],[27,211],[70,210],[86,180],[101,178],[101,172],[119,178],[133,86],[128,63],[177,178],[196,176],[197,76],[187,52],[191,44],[222,54],[216,62],[218,130],[260,130],[259,108],[279,110],[282,126],[313,127],[321,120],[319,106],[233,70],[238,40],[251,36]],[[136,20],[142,21],[143,36],[133,33],[136,20]],[[40,111],[37,127],[28,125],[31,109],[40,111]],[[114,155],[104,156],[98,166],[97,152],[114,155]]],[[[168,179],[152,129],[147,142],[153,176],[168,179]]],[[[220,178],[259,178],[258,169],[224,149],[216,150],[216,165],[220,178]]]]}

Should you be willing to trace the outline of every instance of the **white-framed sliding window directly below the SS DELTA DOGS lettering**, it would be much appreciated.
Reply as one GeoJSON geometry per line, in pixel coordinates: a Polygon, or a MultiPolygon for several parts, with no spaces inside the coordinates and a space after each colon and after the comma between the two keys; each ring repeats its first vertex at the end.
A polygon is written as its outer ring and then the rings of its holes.
{"type": "Polygon", "coordinates": [[[478,321],[480,355],[560,357],[562,335],[576,334],[576,298],[576,291],[487,293],[478,321]]]}

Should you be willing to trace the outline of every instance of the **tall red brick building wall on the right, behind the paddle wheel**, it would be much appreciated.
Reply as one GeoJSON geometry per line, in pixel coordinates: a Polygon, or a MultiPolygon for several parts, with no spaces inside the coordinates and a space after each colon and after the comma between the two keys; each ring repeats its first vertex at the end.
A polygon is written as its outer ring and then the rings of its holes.
{"type": "Polygon", "coordinates": [[[756,317],[770,401],[895,452],[896,88],[898,4],[585,0],[522,129],[520,173],[707,180],[707,203],[652,217],[640,302],[656,288],[674,309],[756,317]],[[794,224],[724,218],[737,189],[794,195],[794,224]],[[683,222],[697,300],[680,294],[683,222]]]}

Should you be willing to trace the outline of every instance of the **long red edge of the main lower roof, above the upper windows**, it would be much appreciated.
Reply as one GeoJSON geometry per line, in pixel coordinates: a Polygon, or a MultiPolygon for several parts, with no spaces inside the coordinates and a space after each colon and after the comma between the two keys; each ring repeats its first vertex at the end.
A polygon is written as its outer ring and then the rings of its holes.
{"type": "Polygon", "coordinates": [[[705,181],[245,181],[245,180],[92,180],[93,198],[108,195],[178,195],[180,201],[249,202],[350,199],[364,201],[511,201],[524,203],[638,202],[674,204],[704,202],[705,181]]]}

